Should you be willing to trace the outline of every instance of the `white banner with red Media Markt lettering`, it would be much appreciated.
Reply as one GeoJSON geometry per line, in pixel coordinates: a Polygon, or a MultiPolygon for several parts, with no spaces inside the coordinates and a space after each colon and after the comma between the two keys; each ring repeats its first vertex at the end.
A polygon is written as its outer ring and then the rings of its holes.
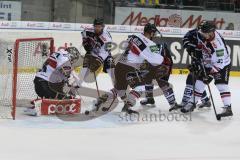
{"type": "Polygon", "coordinates": [[[202,20],[214,21],[218,29],[240,30],[237,13],[190,11],[152,8],[115,8],[115,24],[143,26],[155,23],[158,27],[195,28],[202,20]]]}

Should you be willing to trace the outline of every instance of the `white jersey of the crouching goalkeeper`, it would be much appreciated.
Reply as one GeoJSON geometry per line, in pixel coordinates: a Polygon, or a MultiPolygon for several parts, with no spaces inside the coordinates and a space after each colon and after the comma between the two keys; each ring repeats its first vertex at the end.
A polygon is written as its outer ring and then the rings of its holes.
{"type": "Polygon", "coordinates": [[[37,72],[36,77],[51,83],[59,83],[67,81],[72,70],[69,53],[65,50],[60,50],[48,57],[42,69],[37,72]]]}

